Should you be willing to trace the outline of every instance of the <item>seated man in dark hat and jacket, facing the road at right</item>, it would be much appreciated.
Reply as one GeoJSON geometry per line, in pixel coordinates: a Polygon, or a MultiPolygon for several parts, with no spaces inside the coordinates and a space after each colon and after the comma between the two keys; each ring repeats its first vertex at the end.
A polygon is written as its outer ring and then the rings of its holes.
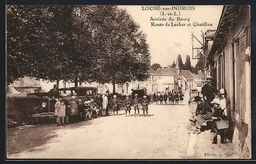
{"type": "Polygon", "coordinates": [[[201,125],[206,123],[207,120],[211,120],[212,110],[207,102],[202,101],[200,96],[196,96],[195,101],[197,102],[197,110],[193,116],[196,120],[196,129],[193,131],[193,133],[199,134],[201,133],[201,125]]]}

